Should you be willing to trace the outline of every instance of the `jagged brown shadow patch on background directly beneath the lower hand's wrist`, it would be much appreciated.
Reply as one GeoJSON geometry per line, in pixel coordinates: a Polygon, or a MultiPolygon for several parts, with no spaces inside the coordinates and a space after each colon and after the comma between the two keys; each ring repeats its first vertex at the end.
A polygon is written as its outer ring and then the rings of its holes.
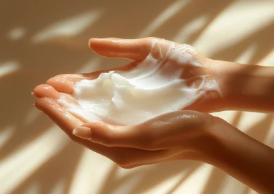
{"type": "Polygon", "coordinates": [[[119,167],[114,167],[105,180],[105,183],[108,184],[103,184],[99,193],[115,193],[116,189],[119,189],[123,184],[127,184],[127,182],[132,182],[132,180],[135,180],[135,183],[127,188],[128,191],[126,193],[143,193],[175,175],[182,174],[182,179],[180,181],[182,182],[188,178],[193,171],[198,169],[200,165],[200,162],[195,161],[164,162],[157,165],[151,165],[151,167],[146,170],[144,170],[143,167],[138,167],[134,173],[124,175],[123,178],[116,177],[116,172],[119,167]],[[136,177],[138,177],[138,180],[136,180],[136,177]]]}

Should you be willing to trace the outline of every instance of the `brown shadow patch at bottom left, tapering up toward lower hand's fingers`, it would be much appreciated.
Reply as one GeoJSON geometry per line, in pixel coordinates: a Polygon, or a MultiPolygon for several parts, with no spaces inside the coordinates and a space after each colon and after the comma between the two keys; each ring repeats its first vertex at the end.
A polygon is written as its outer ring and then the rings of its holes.
{"type": "Polygon", "coordinates": [[[69,193],[75,164],[79,162],[83,149],[80,145],[69,143],[64,149],[45,162],[36,171],[29,176],[24,182],[18,184],[12,194],[26,193],[33,183],[38,184],[37,193],[53,193],[53,189],[60,183],[60,193],[69,193]]]}

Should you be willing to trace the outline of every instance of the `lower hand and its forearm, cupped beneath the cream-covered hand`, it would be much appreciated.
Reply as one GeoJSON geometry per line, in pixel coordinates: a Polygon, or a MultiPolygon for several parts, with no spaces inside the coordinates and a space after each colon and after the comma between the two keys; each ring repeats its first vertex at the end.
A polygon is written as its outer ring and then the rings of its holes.
{"type": "Polygon", "coordinates": [[[177,111],[135,126],[83,123],[57,104],[55,97],[37,99],[35,106],[73,141],[123,168],[198,160],[222,169],[259,193],[274,191],[274,150],[218,117],[177,111]]]}

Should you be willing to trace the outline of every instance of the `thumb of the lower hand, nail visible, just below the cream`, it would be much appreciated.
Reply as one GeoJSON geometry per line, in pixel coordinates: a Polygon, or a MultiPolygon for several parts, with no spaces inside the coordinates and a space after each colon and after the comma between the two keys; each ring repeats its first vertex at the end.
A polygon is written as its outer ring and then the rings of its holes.
{"type": "Polygon", "coordinates": [[[158,133],[142,124],[117,126],[105,123],[86,123],[75,128],[73,134],[108,147],[160,150],[160,147],[154,144],[158,133]]]}

